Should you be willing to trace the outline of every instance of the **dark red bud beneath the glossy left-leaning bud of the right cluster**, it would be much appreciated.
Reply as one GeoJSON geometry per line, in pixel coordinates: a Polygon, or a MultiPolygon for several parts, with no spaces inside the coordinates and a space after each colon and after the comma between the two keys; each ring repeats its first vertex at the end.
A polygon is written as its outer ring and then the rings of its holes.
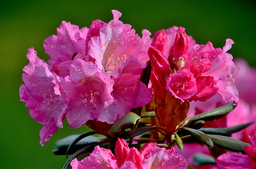
{"type": "Polygon", "coordinates": [[[162,77],[154,70],[151,71],[150,80],[152,83],[152,88],[155,91],[156,96],[164,100],[165,97],[165,82],[162,77]]]}

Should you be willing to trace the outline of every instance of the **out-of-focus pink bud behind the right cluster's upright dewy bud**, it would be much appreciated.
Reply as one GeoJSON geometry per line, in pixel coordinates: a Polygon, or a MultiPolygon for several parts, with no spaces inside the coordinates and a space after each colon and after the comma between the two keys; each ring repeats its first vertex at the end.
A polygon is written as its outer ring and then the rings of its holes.
{"type": "Polygon", "coordinates": [[[151,45],[164,53],[167,45],[166,31],[164,29],[155,33],[151,45]]]}

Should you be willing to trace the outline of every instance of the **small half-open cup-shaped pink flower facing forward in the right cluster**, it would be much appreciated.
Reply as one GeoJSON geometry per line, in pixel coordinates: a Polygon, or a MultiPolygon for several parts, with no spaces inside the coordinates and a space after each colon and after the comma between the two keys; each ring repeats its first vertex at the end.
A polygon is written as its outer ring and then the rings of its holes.
{"type": "Polygon", "coordinates": [[[188,69],[171,74],[166,80],[166,85],[166,89],[183,102],[197,93],[196,79],[188,69]]]}

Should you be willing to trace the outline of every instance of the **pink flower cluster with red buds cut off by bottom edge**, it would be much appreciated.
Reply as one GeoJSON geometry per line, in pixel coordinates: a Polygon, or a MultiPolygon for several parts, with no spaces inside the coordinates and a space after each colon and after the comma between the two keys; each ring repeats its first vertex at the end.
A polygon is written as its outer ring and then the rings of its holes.
{"type": "Polygon", "coordinates": [[[177,154],[174,148],[166,150],[156,147],[156,143],[146,143],[138,151],[136,148],[128,149],[126,141],[118,139],[115,152],[118,153],[116,157],[111,150],[96,146],[90,156],[82,161],[72,160],[71,166],[73,169],[104,167],[110,169],[187,169],[188,167],[186,160],[180,154],[177,154]]]}

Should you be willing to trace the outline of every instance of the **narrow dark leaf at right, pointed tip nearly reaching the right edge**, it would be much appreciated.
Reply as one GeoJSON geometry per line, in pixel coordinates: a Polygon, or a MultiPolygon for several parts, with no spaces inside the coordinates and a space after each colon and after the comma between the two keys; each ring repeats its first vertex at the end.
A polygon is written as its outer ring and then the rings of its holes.
{"type": "Polygon", "coordinates": [[[244,129],[252,123],[246,123],[241,125],[236,125],[233,127],[225,128],[201,128],[199,131],[202,131],[205,134],[221,135],[221,136],[231,136],[232,133],[244,129]]]}

